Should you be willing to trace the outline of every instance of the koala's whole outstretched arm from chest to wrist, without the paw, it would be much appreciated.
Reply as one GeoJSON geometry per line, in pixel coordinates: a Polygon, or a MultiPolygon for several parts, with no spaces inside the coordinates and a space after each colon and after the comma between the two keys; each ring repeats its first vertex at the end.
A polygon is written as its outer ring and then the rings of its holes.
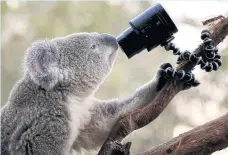
{"type": "Polygon", "coordinates": [[[93,150],[100,147],[110,134],[113,125],[121,117],[126,116],[130,112],[151,103],[160,90],[157,87],[160,85],[159,81],[160,80],[158,77],[155,76],[152,81],[141,86],[132,95],[122,99],[92,99],[93,108],[90,110],[91,121],[84,132],[88,132],[89,135],[94,135],[90,136],[90,141],[93,145],[87,145],[86,149],[93,150]]]}

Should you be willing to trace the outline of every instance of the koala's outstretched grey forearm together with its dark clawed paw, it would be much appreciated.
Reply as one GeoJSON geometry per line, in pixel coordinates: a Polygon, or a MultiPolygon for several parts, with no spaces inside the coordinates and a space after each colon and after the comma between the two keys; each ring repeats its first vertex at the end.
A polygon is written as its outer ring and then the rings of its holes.
{"type": "MultiPolygon", "coordinates": [[[[183,90],[189,89],[192,86],[196,87],[200,84],[192,73],[185,73],[183,70],[174,70],[170,63],[164,63],[160,66],[153,80],[141,86],[132,95],[123,99],[108,101],[95,99],[94,102],[100,105],[100,108],[104,109],[104,112],[110,111],[107,114],[111,117],[118,118],[126,116],[130,112],[151,103],[164,85],[172,79],[181,81],[183,83],[183,90]]],[[[107,116],[107,118],[109,117],[107,116]]]]}

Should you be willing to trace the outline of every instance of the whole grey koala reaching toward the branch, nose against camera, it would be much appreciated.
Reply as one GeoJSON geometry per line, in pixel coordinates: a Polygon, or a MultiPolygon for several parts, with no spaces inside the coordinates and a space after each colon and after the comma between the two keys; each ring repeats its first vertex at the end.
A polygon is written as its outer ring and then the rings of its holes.
{"type": "MultiPolygon", "coordinates": [[[[2,155],[73,155],[96,150],[123,116],[146,106],[166,83],[161,66],[132,95],[99,100],[118,43],[109,34],[75,33],[32,43],[21,79],[1,110],[2,155]]],[[[168,74],[167,74],[168,75],[168,74]]]]}

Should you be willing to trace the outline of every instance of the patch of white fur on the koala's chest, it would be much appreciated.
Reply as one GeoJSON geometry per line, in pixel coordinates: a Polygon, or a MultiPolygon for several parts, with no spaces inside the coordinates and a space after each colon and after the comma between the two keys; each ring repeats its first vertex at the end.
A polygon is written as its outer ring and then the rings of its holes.
{"type": "Polygon", "coordinates": [[[77,139],[80,130],[83,130],[85,126],[91,120],[91,113],[89,109],[91,108],[91,99],[81,100],[76,97],[69,97],[67,100],[67,109],[69,113],[69,139],[66,146],[69,146],[67,150],[71,151],[74,141],[77,139]]]}

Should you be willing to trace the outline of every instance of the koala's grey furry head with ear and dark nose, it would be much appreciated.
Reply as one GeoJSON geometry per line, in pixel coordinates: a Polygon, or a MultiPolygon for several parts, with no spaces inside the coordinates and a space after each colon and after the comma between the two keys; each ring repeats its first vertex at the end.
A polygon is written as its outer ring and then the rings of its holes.
{"type": "Polygon", "coordinates": [[[44,89],[58,83],[94,89],[110,73],[117,48],[115,37],[98,33],[37,41],[27,50],[25,71],[44,89]]]}

